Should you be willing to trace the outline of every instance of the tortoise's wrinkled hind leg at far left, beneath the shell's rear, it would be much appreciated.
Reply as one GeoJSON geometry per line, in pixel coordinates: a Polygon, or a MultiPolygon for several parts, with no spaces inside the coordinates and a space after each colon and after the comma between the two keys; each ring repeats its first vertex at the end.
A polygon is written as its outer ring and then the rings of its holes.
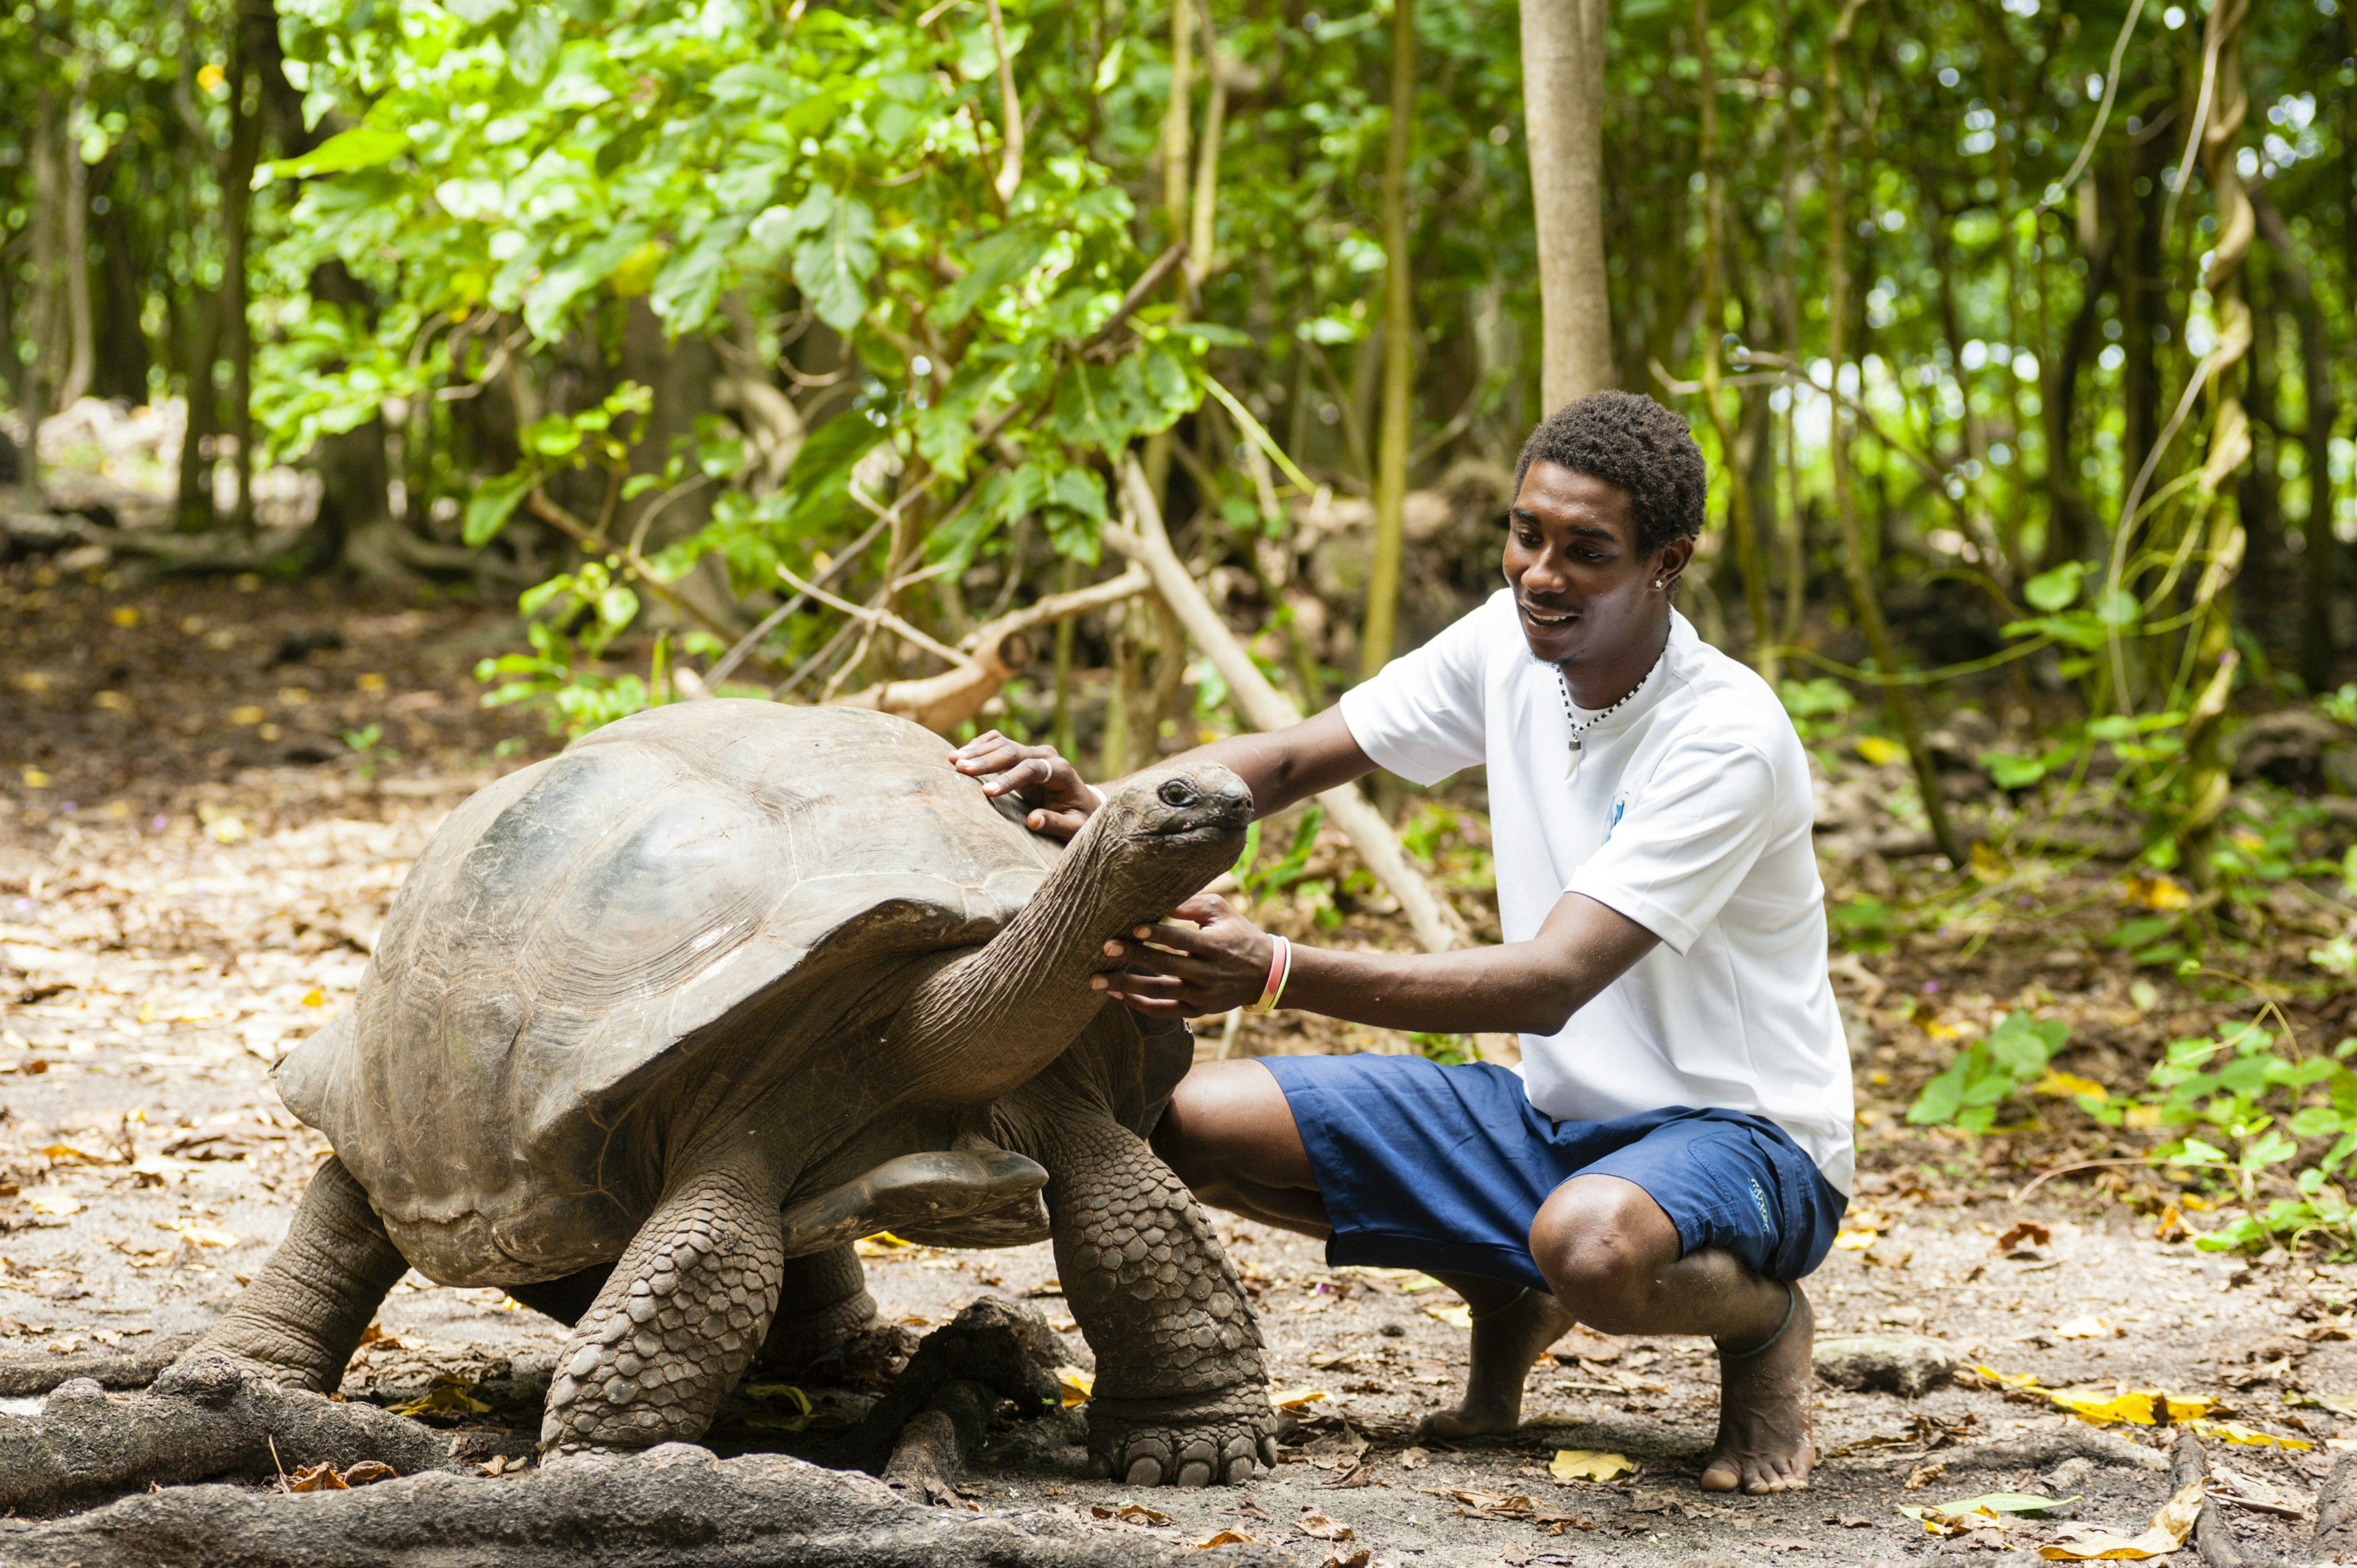
{"type": "Polygon", "coordinates": [[[332,1394],[384,1292],[408,1269],[368,1193],[328,1155],[271,1261],[177,1365],[233,1361],[280,1386],[332,1394]]]}

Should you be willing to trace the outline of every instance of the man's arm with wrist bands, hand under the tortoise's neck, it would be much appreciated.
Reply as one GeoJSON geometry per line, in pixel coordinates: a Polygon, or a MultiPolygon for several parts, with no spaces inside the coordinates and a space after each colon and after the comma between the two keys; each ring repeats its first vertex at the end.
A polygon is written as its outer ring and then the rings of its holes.
{"type": "MultiPolygon", "coordinates": [[[[1105,953],[1129,960],[1131,971],[1096,976],[1091,986],[1134,1012],[1181,1019],[1259,1002],[1275,948],[1268,934],[1209,894],[1188,898],[1176,915],[1141,927],[1143,941],[1105,943],[1105,953]]],[[[1619,910],[1565,894],[1537,936],[1497,948],[1336,953],[1296,946],[1285,1004],[1398,1030],[1553,1035],[1657,941],[1619,910]]]]}

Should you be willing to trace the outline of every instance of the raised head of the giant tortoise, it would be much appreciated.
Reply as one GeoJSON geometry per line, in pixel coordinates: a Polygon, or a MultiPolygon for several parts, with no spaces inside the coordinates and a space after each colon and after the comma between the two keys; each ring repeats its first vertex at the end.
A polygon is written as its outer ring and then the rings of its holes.
{"type": "Polygon", "coordinates": [[[1252,790],[1216,762],[1148,769],[1089,818],[1072,854],[1089,863],[1115,927],[1160,920],[1235,865],[1252,825],[1252,790]]]}

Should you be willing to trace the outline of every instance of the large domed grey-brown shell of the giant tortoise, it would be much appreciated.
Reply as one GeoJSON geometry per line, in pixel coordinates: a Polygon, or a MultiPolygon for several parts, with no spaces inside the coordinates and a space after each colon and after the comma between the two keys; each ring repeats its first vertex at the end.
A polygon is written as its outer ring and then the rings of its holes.
{"type": "Polygon", "coordinates": [[[891,1106],[858,1047],[917,962],[988,941],[1058,854],[907,719],[655,707],[450,813],[278,1087],[422,1273],[570,1273],[719,1106],[780,1096],[808,1165],[853,1141],[891,1106]]]}

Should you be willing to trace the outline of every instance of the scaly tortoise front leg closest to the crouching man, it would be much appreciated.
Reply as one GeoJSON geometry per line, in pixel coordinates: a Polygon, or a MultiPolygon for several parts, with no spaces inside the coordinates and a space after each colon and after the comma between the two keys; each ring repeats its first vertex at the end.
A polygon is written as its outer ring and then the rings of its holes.
{"type": "Polygon", "coordinates": [[[1277,1445],[1244,1287],[1146,1139],[1056,1078],[1009,1096],[1002,1127],[1049,1170],[1056,1273],[1096,1351],[1094,1469],[1129,1485],[1249,1481],[1277,1445]]]}

